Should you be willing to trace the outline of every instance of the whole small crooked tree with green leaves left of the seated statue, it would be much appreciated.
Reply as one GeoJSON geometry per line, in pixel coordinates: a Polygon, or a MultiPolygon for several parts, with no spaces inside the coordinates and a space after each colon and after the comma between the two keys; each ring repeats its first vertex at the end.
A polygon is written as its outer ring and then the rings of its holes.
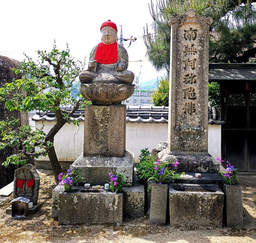
{"type": "MultiPolygon", "coordinates": [[[[54,149],[54,136],[60,131],[64,124],[70,122],[70,117],[74,112],[85,104],[85,100],[75,99],[70,95],[71,90],[75,87],[75,82],[79,73],[84,69],[84,63],[75,61],[69,55],[69,48],[59,50],[55,41],[53,49],[47,53],[46,51],[38,51],[38,61],[33,61],[27,57],[27,61],[23,61],[18,68],[14,69],[16,74],[22,74],[22,78],[13,79],[11,83],[4,84],[0,88],[0,101],[5,101],[5,107],[10,110],[31,111],[40,110],[41,115],[47,115],[48,112],[54,111],[56,123],[45,134],[42,131],[31,131],[29,128],[21,127],[17,130],[16,121],[2,123],[0,148],[11,146],[17,148],[17,154],[7,158],[3,164],[8,166],[12,164],[25,163],[26,156],[39,156],[48,154],[52,165],[54,176],[57,179],[61,172],[61,166],[58,162],[54,149]],[[10,98],[12,97],[12,98],[10,98]],[[69,111],[65,106],[72,105],[69,111]],[[20,133],[19,136],[15,134],[20,133]],[[39,146],[40,150],[35,149],[39,146]]],[[[78,121],[74,121],[78,125],[78,121]]]]}

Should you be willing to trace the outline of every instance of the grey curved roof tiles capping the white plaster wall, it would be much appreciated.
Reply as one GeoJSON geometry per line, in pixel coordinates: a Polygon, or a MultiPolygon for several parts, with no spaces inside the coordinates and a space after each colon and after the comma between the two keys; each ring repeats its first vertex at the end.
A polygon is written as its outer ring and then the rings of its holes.
{"type": "MultiPolygon", "coordinates": [[[[62,109],[71,110],[72,107],[61,107],[62,109]]],[[[126,123],[168,123],[168,106],[127,106],[126,107],[126,123]]],[[[214,108],[208,108],[208,124],[221,125],[224,121],[220,121],[220,116],[215,115],[214,108]]],[[[84,121],[84,110],[78,109],[70,121],[84,121]]],[[[36,112],[32,117],[33,121],[57,121],[54,112],[48,112],[44,115],[42,112],[36,112]]]]}

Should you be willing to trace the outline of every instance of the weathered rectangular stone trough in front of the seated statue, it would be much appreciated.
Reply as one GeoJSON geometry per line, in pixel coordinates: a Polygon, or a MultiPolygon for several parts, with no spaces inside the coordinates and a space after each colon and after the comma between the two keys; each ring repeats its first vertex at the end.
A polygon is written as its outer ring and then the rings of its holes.
{"type": "Polygon", "coordinates": [[[59,193],[59,224],[123,223],[123,193],[84,190],[59,193]]]}

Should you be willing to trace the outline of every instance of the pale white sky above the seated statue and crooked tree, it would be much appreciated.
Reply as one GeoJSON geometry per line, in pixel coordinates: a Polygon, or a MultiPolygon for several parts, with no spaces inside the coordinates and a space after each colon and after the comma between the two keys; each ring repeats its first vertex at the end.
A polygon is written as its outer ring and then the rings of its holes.
{"type": "MultiPolygon", "coordinates": [[[[125,42],[129,54],[128,70],[147,81],[164,75],[157,73],[145,58],[143,27],[152,23],[148,3],[151,0],[94,0],[94,1],[1,1],[0,10],[0,55],[18,61],[24,59],[23,52],[36,59],[36,50],[50,51],[53,40],[57,47],[70,47],[70,55],[88,63],[91,48],[100,42],[100,26],[110,19],[115,22],[120,36],[135,36],[138,39],[125,42]]],[[[151,31],[152,33],[153,31],[151,31]]]]}

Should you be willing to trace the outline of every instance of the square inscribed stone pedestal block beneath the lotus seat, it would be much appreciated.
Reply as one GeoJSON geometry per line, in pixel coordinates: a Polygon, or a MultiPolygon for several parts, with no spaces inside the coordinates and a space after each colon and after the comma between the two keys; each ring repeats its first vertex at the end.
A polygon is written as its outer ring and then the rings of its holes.
{"type": "Polygon", "coordinates": [[[85,107],[83,156],[124,156],[125,113],[125,105],[87,105],[85,107]]]}

